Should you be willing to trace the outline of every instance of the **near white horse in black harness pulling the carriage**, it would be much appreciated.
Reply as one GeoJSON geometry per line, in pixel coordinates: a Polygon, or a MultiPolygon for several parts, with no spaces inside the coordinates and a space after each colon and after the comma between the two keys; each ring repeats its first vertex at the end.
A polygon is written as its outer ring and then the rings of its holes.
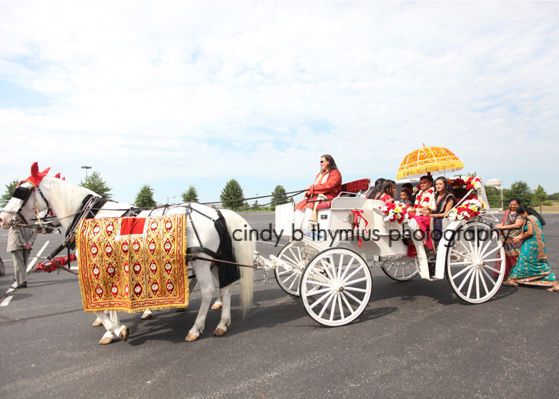
{"type": "MultiPolygon", "coordinates": [[[[48,206],[52,212],[59,217],[59,221],[64,230],[67,231],[71,225],[73,215],[80,212],[82,208],[82,201],[89,194],[96,194],[84,187],[76,186],[60,180],[59,178],[47,175],[48,169],[40,172],[38,171],[37,163],[31,166],[31,176],[24,180],[19,185],[19,192],[13,196],[3,211],[0,213],[0,225],[3,228],[9,228],[12,224],[17,222],[26,223],[38,212],[46,210],[48,206]],[[48,201],[48,204],[45,202],[48,201]]],[[[17,191],[17,190],[16,190],[17,191]]],[[[117,202],[108,202],[101,207],[96,214],[96,218],[101,217],[120,217],[125,209],[131,208],[131,205],[117,202]]],[[[203,246],[212,252],[218,252],[220,246],[219,235],[215,229],[212,219],[217,219],[218,215],[215,209],[205,205],[196,203],[191,204],[191,208],[196,211],[191,212],[192,222],[196,228],[194,232],[190,223],[187,223],[187,244],[189,246],[203,246]],[[207,215],[207,216],[205,216],[207,215]],[[208,218],[211,217],[212,219],[208,218]],[[198,241],[199,240],[199,241],[198,241]]],[[[170,208],[157,208],[155,210],[142,211],[138,217],[158,216],[158,215],[173,215],[185,212],[184,205],[175,205],[170,208]]],[[[252,265],[252,257],[254,254],[255,243],[252,240],[235,240],[233,232],[235,230],[243,231],[242,237],[245,237],[245,229],[250,229],[249,224],[240,217],[237,213],[231,210],[221,210],[225,219],[228,234],[233,243],[233,254],[238,263],[245,265],[252,265]]],[[[250,234],[248,234],[250,236],[250,234]]],[[[239,235],[238,235],[239,236],[239,235]]],[[[212,258],[203,254],[205,258],[212,258]]],[[[210,303],[214,293],[214,284],[212,281],[212,266],[215,262],[196,259],[190,262],[196,280],[200,284],[201,290],[201,305],[198,310],[194,326],[189,330],[185,340],[194,341],[198,336],[203,333],[205,326],[205,318],[210,308],[210,303]]],[[[254,270],[252,268],[240,267],[241,277],[241,305],[243,314],[246,312],[249,305],[252,303],[252,291],[254,287],[254,270]]],[[[194,281],[189,282],[189,286],[194,286],[194,281]]],[[[229,284],[220,289],[219,296],[222,299],[222,317],[215,328],[214,335],[224,335],[227,327],[231,324],[231,288],[233,284],[229,284]]],[[[105,312],[96,312],[96,316],[101,320],[107,332],[103,335],[100,344],[108,344],[116,338],[121,338],[126,341],[129,335],[129,328],[119,323],[116,312],[109,317],[105,312]]]]}

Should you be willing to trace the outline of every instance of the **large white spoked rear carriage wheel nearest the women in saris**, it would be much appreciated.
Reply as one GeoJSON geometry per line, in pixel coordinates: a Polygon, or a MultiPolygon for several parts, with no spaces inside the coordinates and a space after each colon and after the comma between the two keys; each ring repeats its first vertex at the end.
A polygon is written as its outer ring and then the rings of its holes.
{"type": "Polygon", "coordinates": [[[504,277],[504,248],[497,231],[484,222],[461,225],[447,247],[445,268],[458,298],[469,303],[491,299],[504,277]]]}

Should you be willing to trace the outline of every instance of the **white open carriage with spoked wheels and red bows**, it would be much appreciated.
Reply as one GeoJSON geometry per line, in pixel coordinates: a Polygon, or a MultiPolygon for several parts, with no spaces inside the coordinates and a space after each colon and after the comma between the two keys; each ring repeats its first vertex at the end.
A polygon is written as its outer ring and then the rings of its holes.
{"type": "MultiPolygon", "coordinates": [[[[363,184],[363,180],[359,182],[363,184]]],[[[363,194],[372,191],[370,184],[366,187],[363,194]]],[[[260,257],[261,261],[275,270],[286,293],[301,297],[314,320],[325,326],[343,326],[356,319],[370,299],[372,266],[380,266],[398,281],[416,275],[430,281],[446,277],[456,296],[467,303],[484,303],[497,293],[504,277],[504,249],[487,219],[498,210],[486,208],[467,220],[445,218],[433,252],[421,244],[419,226],[387,222],[380,209],[384,202],[358,196],[357,191],[342,191],[321,205],[312,231],[305,235],[293,231],[293,203],[276,208],[276,231],[290,242],[277,257],[260,257]],[[414,242],[415,256],[408,254],[409,240],[414,242]]],[[[463,205],[472,191],[457,198],[454,208],[463,205]]],[[[482,184],[475,194],[487,203],[482,184]]]]}

